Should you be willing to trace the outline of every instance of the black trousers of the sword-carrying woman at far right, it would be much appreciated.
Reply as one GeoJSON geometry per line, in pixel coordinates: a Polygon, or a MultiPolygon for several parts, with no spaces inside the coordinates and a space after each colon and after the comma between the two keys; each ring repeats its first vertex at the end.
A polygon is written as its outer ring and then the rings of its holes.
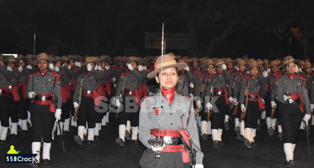
{"type": "Polygon", "coordinates": [[[299,104],[280,103],[279,119],[282,127],[283,143],[296,143],[303,115],[299,104]]]}

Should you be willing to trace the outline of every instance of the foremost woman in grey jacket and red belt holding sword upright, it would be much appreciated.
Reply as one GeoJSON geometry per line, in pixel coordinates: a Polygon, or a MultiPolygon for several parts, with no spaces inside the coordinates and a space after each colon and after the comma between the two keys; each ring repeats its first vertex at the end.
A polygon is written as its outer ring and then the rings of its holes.
{"type": "Polygon", "coordinates": [[[203,167],[193,101],[175,91],[178,71],[186,66],[186,63],[177,63],[171,55],[162,55],[156,60],[154,71],[147,75],[160,83],[161,94],[147,97],[141,104],[139,140],[148,148],[139,161],[141,167],[190,167],[193,160],[189,159],[186,147],[196,149],[195,167],[203,167]],[[159,136],[164,142],[162,147],[156,148],[148,142],[159,136]],[[160,150],[158,159],[155,151],[160,150]]]}

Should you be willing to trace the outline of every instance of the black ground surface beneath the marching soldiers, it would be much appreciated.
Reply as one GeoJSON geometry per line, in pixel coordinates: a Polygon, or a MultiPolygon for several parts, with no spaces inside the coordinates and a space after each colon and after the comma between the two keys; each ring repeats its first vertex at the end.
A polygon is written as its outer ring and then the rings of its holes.
{"type": "MultiPolygon", "coordinates": [[[[50,164],[41,164],[40,167],[139,167],[139,159],[146,147],[142,144],[132,144],[131,141],[127,141],[125,147],[118,146],[115,143],[118,136],[118,126],[115,121],[115,115],[111,115],[110,125],[93,144],[84,143],[79,146],[74,142],[73,137],[77,134],[77,130],[64,134],[65,153],[62,150],[61,140],[55,137],[55,142],[51,145],[50,164]]],[[[230,125],[230,130],[223,131],[223,145],[219,145],[218,149],[213,148],[211,139],[201,141],[204,167],[287,167],[282,141],[277,137],[277,133],[273,136],[268,135],[265,123],[262,129],[257,131],[256,145],[252,145],[252,149],[247,149],[242,141],[236,139],[233,122],[230,122],[230,125]]],[[[14,145],[21,154],[31,153],[30,132],[29,130],[27,134],[18,134],[16,139],[8,136],[7,142],[0,144],[1,168],[31,167],[28,164],[5,164],[5,152],[10,145],[14,145]]],[[[298,143],[294,152],[294,160],[298,168],[314,167],[314,131],[311,131],[309,139],[312,163],[309,162],[306,134],[298,134],[298,143]]]]}

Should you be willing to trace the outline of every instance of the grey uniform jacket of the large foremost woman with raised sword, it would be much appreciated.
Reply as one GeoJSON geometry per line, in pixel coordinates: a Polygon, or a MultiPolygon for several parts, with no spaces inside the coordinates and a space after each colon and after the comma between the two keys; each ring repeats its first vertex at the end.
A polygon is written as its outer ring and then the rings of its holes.
{"type": "MultiPolygon", "coordinates": [[[[181,130],[182,123],[180,116],[183,117],[184,129],[187,129],[190,133],[190,138],[193,142],[200,148],[198,129],[196,125],[196,118],[194,113],[194,108],[192,104],[192,99],[190,97],[182,96],[175,92],[175,96],[171,104],[165,99],[164,96],[161,97],[161,105],[159,115],[154,113],[154,106],[160,105],[160,93],[154,96],[147,97],[143,99],[141,104],[141,109],[139,113],[139,130],[138,137],[139,140],[147,148],[152,148],[147,142],[149,139],[154,138],[154,135],[150,134],[151,129],[168,129],[168,130],[181,130]],[[160,128],[158,127],[160,117],[160,128]],[[189,123],[187,124],[187,119],[189,118],[189,123]]],[[[192,148],[196,149],[194,145],[192,148]]],[[[197,149],[196,149],[197,150],[197,149]]],[[[196,152],[196,164],[202,164],[203,152],[196,152]]]]}

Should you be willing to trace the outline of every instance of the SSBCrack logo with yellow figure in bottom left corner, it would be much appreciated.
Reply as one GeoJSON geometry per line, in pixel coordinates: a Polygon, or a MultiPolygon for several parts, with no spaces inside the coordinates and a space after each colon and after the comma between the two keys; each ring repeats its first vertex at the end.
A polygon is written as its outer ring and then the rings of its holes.
{"type": "Polygon", "coordinates": [[[38,163],[35,158],[39,154],[20,154],[19,152],[11,145],[5,154],[5,163],[38,163]]]}

